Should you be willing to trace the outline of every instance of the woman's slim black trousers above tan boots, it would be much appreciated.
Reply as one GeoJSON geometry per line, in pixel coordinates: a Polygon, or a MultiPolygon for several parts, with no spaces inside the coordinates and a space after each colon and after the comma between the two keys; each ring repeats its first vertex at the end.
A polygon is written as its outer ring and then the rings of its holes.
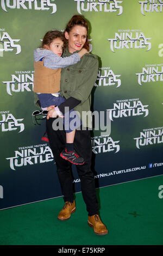
{"type": "MultiPolygon", "coordinates": [[[[60,157],[61,151],[65,148],[65,131],[54,131],[52,123],[55,118],[49,118],[46,121],[49,144],[52,149],[55,163],[57,165],[57,174],[61,185],[61,191],[64,201],[73,202],[73,179],[71,175],[71,163],[60,157]]],[[[77,172],[81,182],[83,199],[86,204],[86,210],[89,216],[99,214],[98,202],[96,197],[95,178],[91,170],[92,145],[89,130],[76,130],[74,139],[74,149],[84,158],[85,163],[77,165],[77,172]]]]}

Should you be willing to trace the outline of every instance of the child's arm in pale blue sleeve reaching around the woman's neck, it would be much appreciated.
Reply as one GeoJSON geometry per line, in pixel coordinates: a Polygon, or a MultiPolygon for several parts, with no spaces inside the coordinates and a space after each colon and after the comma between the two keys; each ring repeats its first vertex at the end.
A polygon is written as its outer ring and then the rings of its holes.
{"type": "Polygon", "coordinates": [[[85,48],[83,48],[78,53],[73,53],[69,57],[59,57],[52,52],[52,54],[45,57],[43,60],[44,66],[49,69],[65,68],[66,66],[74,65],[80,61],[85,53],[88,53],[85,48]]]}

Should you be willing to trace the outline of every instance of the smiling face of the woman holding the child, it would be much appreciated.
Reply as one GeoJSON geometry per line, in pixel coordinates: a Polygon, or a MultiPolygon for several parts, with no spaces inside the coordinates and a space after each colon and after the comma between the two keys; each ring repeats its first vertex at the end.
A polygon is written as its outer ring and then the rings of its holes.
{"type": "Polygon", "coordinates": [[[68,50],[73,53],[80,51],[86,41],[87,30],[82,26],[74,26],[72,30],[68,33],[65,32],[65,38],[68,40],[68,50]]]}

